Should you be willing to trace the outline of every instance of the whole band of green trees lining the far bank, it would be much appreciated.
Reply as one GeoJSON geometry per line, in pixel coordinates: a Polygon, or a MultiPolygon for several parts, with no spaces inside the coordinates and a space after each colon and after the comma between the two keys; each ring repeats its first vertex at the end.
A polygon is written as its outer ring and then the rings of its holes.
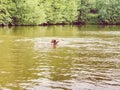
{"type": "Polygon", "coordinates": [[[120,0],[0,0],[0,25],[118,24],[120,0]]]}

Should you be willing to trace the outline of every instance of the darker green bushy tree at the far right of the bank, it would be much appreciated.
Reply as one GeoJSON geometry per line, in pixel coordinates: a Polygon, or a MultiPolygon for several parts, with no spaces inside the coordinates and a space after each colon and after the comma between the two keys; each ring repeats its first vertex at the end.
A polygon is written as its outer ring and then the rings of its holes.
{"type": "Polygon", "coordinates": [[[120,24],[120,1],[109,0],[109,3],[101,7],[99,12],[99,22],[101,24],[120,24]]]}

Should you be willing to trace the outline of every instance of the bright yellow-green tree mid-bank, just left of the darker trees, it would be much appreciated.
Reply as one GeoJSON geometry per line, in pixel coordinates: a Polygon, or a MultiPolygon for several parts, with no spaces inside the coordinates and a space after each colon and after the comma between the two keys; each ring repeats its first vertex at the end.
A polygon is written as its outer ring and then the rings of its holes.
{"type": "Polygon", "coordinates": [[[47,0],[44,3],[48,23],[72,23],[77,20],[76,0],[47,0]]]}

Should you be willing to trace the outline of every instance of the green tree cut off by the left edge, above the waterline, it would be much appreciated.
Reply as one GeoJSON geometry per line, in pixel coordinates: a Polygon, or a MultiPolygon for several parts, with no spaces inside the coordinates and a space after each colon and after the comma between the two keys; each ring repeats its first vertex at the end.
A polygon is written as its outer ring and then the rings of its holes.
{"type": "Polygon", "coordinates": [[[12,24],[12,15],[14,15],[15,4],[12,0],[0,0],[0,25],[12,24]]]}

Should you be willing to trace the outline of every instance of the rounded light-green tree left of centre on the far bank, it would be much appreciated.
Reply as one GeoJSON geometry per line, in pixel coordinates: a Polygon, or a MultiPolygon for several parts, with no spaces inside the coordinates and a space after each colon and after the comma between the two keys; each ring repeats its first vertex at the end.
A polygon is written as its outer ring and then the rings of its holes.
{"type": "Polygon", "coordinates": [[[46,22],[44,7],[38,0],[21,0],[16,2],[14,16],[16,25],[38,25],[46,22]]]}

